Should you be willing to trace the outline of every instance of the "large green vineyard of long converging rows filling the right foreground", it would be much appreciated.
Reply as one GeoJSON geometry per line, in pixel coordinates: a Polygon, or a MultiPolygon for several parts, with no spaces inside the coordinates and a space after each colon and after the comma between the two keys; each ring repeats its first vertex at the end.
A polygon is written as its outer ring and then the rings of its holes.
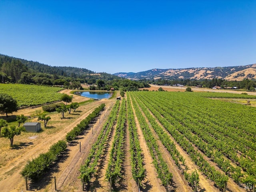
{"type": "MultiPolygon", "coordinates": [[[[232,97],[232,94],[223,95],[232,97]]],[[[110,129],[115,127],[105,175],[113,190],[122,190],[119,186],[125,182],[122,179],[126,174],[124,166],[127,166],[124,164],[124,140],[129,135],[132,178],[143,191],[148,168],[144,166],[138,129],[142,131],[152,157],[156,177],[167,191],[175,191],[177,178],[170,169],[168,157],[162,154],[163,148],[169,152],[169,158],[182,175],[187,191],[255,190],[256,122],[252,117],[256,116],[256,111],[251,106],[211,99],[223,98],[223,95],[127,92],[119,109],[119,101],[116,102],[91,155],[81,166],[80,178],[90,185],[94,174],[100,171],[97,161],[100,156],[104,157],[102,147],[110,129]],[[206,182],[212,185],[212,189],[205,188],[206,182]]],[[[238,97],[233,94],[233,98],[238,97]]]]}

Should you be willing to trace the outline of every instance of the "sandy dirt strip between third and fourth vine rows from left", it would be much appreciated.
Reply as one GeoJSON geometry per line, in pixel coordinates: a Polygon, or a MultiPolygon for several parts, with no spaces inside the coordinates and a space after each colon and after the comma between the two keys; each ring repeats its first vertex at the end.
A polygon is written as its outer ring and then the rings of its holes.
{"type": "MultiPolygon", "coordinates": [[[[135,114],[133,104],[132,110],[135,114]]],[[[146,140],[142,134],[138,118],[135,115],[136,127],[138,128],[138,138],[140,140],[140,147],[142,149],[142,154],[144,154],[144,167],[146,168],[146,178],[142,183],[144,183],[144,189],[141,189],[142,192],[164,192],[166,189],[161,185],[161,180],[157,178],[156,168],[153,164],[153,159],[150,155],[146,140]]]]}

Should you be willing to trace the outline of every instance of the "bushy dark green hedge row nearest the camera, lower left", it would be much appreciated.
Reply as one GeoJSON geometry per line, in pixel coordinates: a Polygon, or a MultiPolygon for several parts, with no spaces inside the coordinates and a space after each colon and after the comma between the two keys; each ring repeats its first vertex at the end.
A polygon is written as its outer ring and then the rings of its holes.
{"type": "Polygon", "coordinates": [[[52,166],[60,156],[61,152],[66,150],[67,144],[64,140],[59,140],[53,144],[48,152],[40,154],[37,158],[28,161],[20,174],[31,181],[36,181],[47,173],[47,170],[52,166]]]}

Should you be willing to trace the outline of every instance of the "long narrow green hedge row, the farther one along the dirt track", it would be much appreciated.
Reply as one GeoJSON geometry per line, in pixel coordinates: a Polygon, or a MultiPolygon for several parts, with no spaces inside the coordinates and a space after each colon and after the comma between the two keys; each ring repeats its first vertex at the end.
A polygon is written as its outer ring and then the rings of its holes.
{"type": "Polygon", "coordinates": [[[74,140],[86,127],[90,124],[90,121],[98,116],[100,111],[103,110],[105,104],[101,104],[98,108],[96,108],[91,114],[89,114],[84,120],[80,122],[80,124],[76,125],[70,132],[66,135],[66,141],[71,142],[74,140]]]}

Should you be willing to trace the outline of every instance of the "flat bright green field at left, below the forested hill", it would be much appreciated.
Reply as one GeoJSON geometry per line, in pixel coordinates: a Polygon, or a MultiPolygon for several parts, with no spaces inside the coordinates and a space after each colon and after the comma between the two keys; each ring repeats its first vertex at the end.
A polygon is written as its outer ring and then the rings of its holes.
{"type": "Polygon", "coordinates": [[[63,88],[26,84],[0,84],[0,92],[12,96],[18,107],[35,106],[60,100],[63,88]]]}

